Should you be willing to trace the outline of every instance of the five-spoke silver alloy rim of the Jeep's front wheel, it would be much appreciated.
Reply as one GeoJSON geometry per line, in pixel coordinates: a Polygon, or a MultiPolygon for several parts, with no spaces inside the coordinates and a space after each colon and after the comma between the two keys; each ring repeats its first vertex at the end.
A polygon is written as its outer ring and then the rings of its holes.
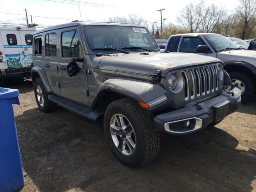
{"type": "Polygon", "coordinates": [[[122,114],[114,114],[110,120],[110,134],[118,150],[130,156],[136,148],[136,135],[132,124],[122,114]]]}

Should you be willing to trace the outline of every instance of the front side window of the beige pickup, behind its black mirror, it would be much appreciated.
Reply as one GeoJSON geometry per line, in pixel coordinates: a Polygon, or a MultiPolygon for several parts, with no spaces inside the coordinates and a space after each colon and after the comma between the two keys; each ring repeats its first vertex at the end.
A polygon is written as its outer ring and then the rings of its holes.
{"type": "Polygon", "coordinates": [[[198,45],[205,45],[199,37],[184,37],[180,44],[180,52],[196,53],[198,45]]]}

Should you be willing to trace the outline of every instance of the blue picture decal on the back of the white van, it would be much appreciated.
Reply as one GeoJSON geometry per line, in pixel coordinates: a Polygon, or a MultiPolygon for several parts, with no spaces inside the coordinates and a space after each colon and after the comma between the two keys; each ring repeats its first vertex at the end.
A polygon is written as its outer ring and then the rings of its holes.
{"type": "Polygon", "coordinates": [[[5,56],[8,68],[28,67],[32,63],[31,54],[6,54],[5,56]]]}

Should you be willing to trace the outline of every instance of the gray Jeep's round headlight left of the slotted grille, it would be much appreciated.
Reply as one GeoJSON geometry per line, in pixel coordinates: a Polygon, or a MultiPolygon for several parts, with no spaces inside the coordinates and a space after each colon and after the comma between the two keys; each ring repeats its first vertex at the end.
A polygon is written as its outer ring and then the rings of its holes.
{"type": "Polygon", "coordinates": [[[171,73],[166,76],[166,82],[172,92],[180,92],[183,88],[183,79],[178,73],[171,73]]]}

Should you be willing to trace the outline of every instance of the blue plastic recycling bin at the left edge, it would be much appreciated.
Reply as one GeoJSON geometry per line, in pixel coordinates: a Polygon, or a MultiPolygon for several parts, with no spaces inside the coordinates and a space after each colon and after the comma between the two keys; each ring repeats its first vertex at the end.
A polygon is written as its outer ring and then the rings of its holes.
{"type": "Polygon", "coordinates": [[[12,104],[20,104],[19,90],[0,88],[0,192],[24,186],[20,147],[12,104]]]}

